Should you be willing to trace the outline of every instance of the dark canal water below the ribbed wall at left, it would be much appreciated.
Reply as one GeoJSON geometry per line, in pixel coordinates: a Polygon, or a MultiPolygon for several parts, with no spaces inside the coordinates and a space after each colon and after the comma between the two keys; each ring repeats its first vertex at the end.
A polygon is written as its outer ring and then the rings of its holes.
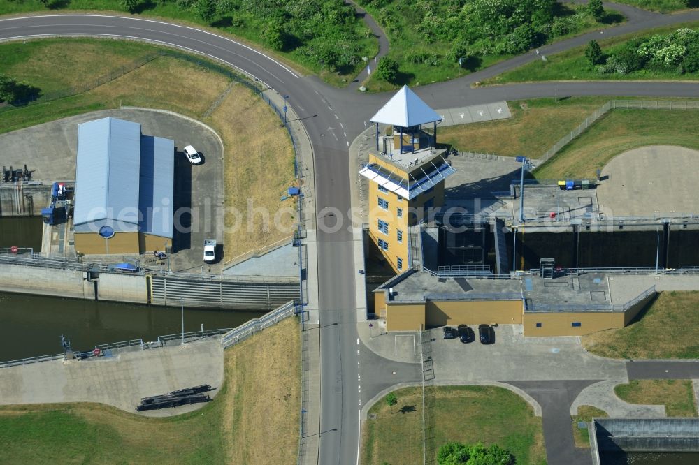
{"type": "MultiPolygon", "coordinates": [[[[187,309],[185,332],[236,327],[260,311],[187,309]]],[[[94,300],[0,293],[0,361],[61,353],[61,334],[73,350],[140,339],[154,341],[182,331],[179,307],[151,307],[94,300]]]]}

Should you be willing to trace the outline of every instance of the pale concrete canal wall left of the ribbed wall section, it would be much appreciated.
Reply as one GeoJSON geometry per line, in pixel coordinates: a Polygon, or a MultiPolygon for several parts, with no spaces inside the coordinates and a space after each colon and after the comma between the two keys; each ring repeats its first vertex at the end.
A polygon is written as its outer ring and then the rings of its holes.
{"type": "Polygon", "coordinates": [[[114,300],[147,303],[145,276],[100,273],[99,280],[87,281],[80,270],[30,267],[0,263],[0,291],[31,293],[75,299],[114,300]]]}

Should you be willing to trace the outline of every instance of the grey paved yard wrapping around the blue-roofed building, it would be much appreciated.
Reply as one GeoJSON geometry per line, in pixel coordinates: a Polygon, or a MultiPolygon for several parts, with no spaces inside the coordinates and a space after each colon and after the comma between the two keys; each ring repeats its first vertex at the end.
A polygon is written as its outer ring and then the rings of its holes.
{"type": "MultiPolygon", "coordinates": [[[[177,253],[171,256],[173,271],[219,272],[218,265],[204,265],[203,240],[224,237],[223,147],[215,133],[191,119],[171,112],[113,109],[59,119],[0,135],[3,165],[35,170],[32,179],[44,182],[75,179],[78,124],[92,119],[116,117],[136,121],[146,135],[175,141],[175,235],[177,253]],[[31,141],[31,143],[27,143],[31,141]],[[193,145],[203,164],[189,164],[182,148],[193,145]]],[[[162,249],[161,249],[162,250],[162,249]]],[[[121,260],[121,257],[118,258],[121,260]]],[[[146,257],[146,266],[157,266],[146,257]],[[148,263],[150,262],[150,263],[148,263]]],[[[162,266],[166,267],[166,263],[162,266]]]]}

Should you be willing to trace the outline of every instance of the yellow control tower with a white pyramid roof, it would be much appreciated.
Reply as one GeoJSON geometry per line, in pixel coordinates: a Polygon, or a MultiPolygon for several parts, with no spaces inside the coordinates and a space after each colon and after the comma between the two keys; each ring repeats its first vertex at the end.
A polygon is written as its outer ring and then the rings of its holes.
{"type": "Polygon", "coordinates": [[[444,182],[455,170],[435,148],[442,117],[403,86],[370,120],[376,152],[359,174],[369,179],[369,236],[395,272],[412,267],[410,227],[444,204],[444,182]],[[432,130],[424,125],[432,124],[432,130]],[[386,127],[381,131],[380,125],[386,127]]]}

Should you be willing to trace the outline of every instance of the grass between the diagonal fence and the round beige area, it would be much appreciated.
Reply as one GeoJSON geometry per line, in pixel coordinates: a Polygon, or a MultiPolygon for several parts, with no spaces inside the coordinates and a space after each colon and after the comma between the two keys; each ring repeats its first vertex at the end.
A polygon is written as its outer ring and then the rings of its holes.
{"type": "Polygon", "coordinates": [[[538,179],[596,176],[596,170],[630,149],[680,145],[699,149],[699,110],[611,110],[534,170],[538,179]]]}

